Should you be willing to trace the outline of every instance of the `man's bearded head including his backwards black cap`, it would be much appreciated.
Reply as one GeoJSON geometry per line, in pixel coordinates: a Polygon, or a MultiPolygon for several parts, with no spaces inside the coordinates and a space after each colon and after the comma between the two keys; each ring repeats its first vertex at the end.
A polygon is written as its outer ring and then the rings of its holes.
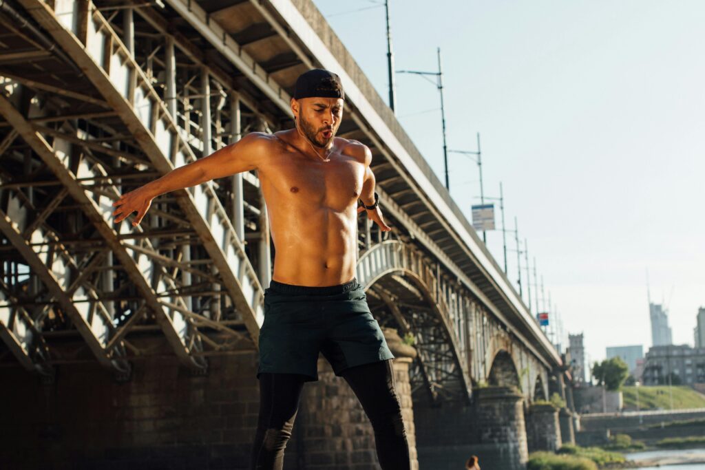
{"type": "Polygon", "coordinates": [[[302,73],[291,100],[302,137],[315,147],[329,147],[341,125],[344,99],[343,85],[335,73],[321,69],[302,73]]]}

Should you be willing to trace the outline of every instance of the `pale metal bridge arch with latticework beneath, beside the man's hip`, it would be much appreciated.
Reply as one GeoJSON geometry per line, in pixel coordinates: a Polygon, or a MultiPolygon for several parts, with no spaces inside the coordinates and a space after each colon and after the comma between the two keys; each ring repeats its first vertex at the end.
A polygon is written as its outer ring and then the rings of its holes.
{"type": "Polygon", "coordinates": [[[467,365],[460,359],[436,271],[422,253],[398,240],[386,240],[360,257],[357,279],[378,321],[414,340],[418,355],[410,369],[412,395],[431,402],[441,397],[467,402],[472,391],[467,365]]]}

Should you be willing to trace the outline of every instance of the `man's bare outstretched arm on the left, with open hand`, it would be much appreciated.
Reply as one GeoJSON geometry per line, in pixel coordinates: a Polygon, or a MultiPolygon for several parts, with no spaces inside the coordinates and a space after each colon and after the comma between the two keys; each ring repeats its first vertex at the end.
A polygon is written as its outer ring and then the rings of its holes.
{"type": "Polygon", "coordinates": [[[219,151],[198,159],[188,165],[174,168],[161,178],[154,180],[134,191],[123,194],[113,203],[115,223],[137,212],[133,225],[138,225],[147,214],[152,199],[166,192],[181,190],[224,178],[235,173],[257,169],[258,157],[266,142],[266,135],[253,132],[235,144],[223,147],[219,151]]]}

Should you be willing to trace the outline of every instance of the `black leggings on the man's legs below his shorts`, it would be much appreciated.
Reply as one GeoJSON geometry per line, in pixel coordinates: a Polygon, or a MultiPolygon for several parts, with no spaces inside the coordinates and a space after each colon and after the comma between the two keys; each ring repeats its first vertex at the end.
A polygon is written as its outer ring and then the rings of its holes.
{"type": "MultiPolygon", "coordinates": [[[[394,390],[391,360],[350,367],[342,373],[374,428],[377,459],[382,470],[410,469],[409,444],[394,390]]],[[[281,470],[291,437],[305,376],[259,374],[259,419],[252,470],[281,470]]]]}

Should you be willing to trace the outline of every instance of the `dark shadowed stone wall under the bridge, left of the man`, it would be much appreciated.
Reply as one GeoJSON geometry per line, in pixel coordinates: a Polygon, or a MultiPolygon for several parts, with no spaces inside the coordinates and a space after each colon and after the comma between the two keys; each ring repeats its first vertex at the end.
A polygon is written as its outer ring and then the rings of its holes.
{"type": "Polygon", "coordinates": [[[176,357],[154,357],[118,383],[98,364],[72,364],[49,385],[2,369],[0,468],[247,469],[255,366],[255,352],[212,357],[194,376],[176,357]]]}

